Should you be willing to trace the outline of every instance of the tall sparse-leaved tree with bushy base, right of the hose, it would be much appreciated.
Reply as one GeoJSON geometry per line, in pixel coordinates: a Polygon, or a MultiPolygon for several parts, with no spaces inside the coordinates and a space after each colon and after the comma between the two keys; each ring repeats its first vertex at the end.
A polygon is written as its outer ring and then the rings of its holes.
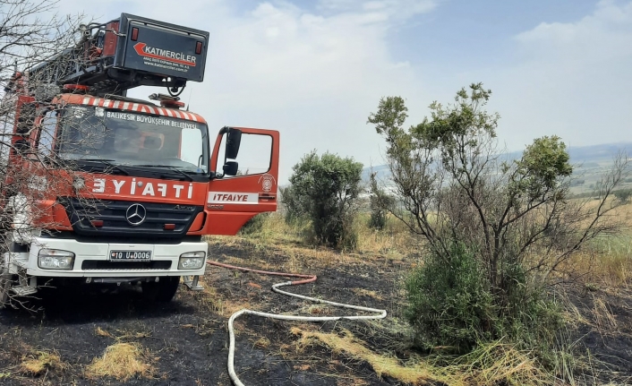
{"type": "MultiPolygon", "coordinates": [[[[559,319],[542,287],[583,244],[618,229],[606,220],[617,205],[608,197],[622,182],[628,159],[619,155],[597,185],[598,205],[570,201],[573,168],[564,142],[545,136],[521,159],[501,161],[500,116],[484,109],[490,97],[482,83],[472,84],[457,92],[454,104],[433,102],[430,118],[407,130],[407,107],[399,97],[381,99],[369,116],[387,142],[398,195],[387,208],[429,249],[428,261],[407,282],[407,314],[424,346],[463,351],[481,339],[507,336],[527,346],[547,341],[559,319]],[[438,275],[438,268],[451,272],[438,275]],[[422,297],[415,295],[419,288],[422,297]],[[448,288],[454,306],[426,301],[445,299],[448,288]]],[[[377,187],[373,193],[380,195],[377,187]]]]}

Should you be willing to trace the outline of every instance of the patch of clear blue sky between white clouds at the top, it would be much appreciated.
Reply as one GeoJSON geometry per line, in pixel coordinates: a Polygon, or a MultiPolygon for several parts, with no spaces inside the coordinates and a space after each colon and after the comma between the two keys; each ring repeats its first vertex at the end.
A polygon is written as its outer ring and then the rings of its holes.
{"type": "Polygon", "coordinates": [[[594,0],[445,0],[394,30],[389,46],[399,60],[424,64],[431,57],[436,62],[428,64],[437,68],[457,69],[464,59],[473,67],[498,64],[499,58],[510,62],[515,35],[541,22],[579,20],[594,6],[594,0]]]}

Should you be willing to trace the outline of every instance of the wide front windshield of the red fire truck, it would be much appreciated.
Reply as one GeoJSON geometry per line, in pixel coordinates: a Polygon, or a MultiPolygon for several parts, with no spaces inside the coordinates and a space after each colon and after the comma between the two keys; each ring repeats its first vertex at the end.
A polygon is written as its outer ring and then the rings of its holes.
{"type": "Polygon", "coordinates": [[[63,159],[104,160],[113,165],[208,171],[206,124],[103,107],[66,107],[57,154],[63,159]]]}

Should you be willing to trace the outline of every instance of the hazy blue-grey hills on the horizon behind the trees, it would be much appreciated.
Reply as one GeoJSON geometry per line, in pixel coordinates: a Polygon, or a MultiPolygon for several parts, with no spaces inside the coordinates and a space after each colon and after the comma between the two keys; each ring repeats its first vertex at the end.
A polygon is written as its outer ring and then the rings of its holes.
{"type": "MultiPolygon", "coordinates": [[[[591,146],[569,147],[568,154],[570,161],[576,166],[576,171],[585,172],[590,168],[607,167],[612,163],[612,158],[619,151],[627,151],[632,156],[632,142],[605,143],[591,146]]],[[[513,151],[502,155],[503,159],[519,159],[522,151],[513,151]]],[[[371,173],[377,173],[379,179],[384,179],[390,175],[388,165],[378,165],[363,168],[363,181],[368,182],[371,173]]]]}

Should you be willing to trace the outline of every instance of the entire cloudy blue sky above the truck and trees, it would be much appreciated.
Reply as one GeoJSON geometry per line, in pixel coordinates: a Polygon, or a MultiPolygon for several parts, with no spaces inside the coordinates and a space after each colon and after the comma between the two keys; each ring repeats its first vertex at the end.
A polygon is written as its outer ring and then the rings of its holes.
{"type": "Polygon", "coordinates": [[[632,141],[632,0],[147,4],[61,0],[59,11],[209,30],[205,81],[184,99],[211,130],[278,129],[281,182],[312,149],[383,163],[381,139],[366,124],[380,97],[406,98],[416,124],[432,100],[449,102],[474,81],[493,91],[489,108],[500,113],[508,150],[551,134],[570,146],[632,141]]]}

